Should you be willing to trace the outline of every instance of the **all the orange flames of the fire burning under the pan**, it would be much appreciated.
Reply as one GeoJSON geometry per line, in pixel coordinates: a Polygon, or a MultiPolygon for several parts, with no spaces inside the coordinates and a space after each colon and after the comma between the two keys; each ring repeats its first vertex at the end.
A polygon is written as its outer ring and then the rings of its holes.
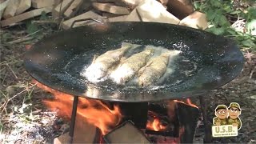
{"type": "MultiPolygon", "coordinates": [[[[43,100],[43,102],[48,108],[50,108],[50,110],[58,110],[58,115],[64,118],[71,117],[74,100],[72,95],[64,94],[58,90],[53,90],[39,82],[37,82],[37,86],[50,92],[51,94],[54,94],[53,100],[43,100]]],[[[174,121],[177,102],[182,102],[186,105],[198,108],[198,106],[194,105],[189,98],[186,98],[182,101],[168,101],[166,112],[168,118],[170,118],[170,121],[174,121]]],[[[147,130],[165,131],[170,129],[170,126],[166,124],[166,121],[162,120],[162,115],[149,110],[148,116],[150,116],[150,118],[148,118],[146,123],[147,130]]],[[[83,122],[86,120],[86,122],[89,124],[98,127],[102,131],[102,134],[105,135],[113,130],[116,126],[118,126],[118,124],[122,121],[122,113],[120,107],[117,104],[111,105],[110,103],[102,102],[100,100],[78,98],[77,118],[83,122]]],[[[182,134],[184,134],[184,130],[185,128],[183,126],[179,128],[178,138],[166,139],[166,137],[158,136],[157,143],[178,143],[180,142],[182,134]]],[[[102,141],[102,139],[100,141],[102,141]]]]}

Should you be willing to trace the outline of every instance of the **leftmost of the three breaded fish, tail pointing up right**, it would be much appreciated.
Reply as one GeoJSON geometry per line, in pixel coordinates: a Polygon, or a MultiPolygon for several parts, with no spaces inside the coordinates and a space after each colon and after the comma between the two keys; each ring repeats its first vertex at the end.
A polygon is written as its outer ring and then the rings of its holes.
{"type": "Polygon", "coordinates": [[[98,58],[94,56],[94,61],[86,69],[86,73],[82,75],[86,76],[90,82],[98,82],[101,78],[106,76],[113,66],[118,65],[127,50],[137,46],[138,45],[123,43],[122,48],[120,49],[107,51],[106,53],[98,56],[98,58]]]}

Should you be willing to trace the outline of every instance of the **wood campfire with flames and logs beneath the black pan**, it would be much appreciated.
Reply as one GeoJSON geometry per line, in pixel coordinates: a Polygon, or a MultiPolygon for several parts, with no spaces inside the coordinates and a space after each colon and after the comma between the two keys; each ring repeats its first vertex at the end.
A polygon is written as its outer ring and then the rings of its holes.
{"type": "MultiPolygon", "coordinates": [[[[42,84],[38,87],[54,94],[54,100],[43,101],[46,106],[69,119],[74,97],[42,84]]],[[[190,99],[148,104],[79,98],[73,142],[193,142],[198,114],[190,99]]]]}

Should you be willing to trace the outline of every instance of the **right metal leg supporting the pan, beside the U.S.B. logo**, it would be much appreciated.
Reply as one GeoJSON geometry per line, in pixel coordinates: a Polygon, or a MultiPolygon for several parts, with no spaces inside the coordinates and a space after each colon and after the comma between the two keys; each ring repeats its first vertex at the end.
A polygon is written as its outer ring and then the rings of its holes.
{"type": "Polygon", "coordinates": [[[203,123],[205,126],[205,137],[204,137],[204,143],[210,143],[212,141],[212,135],[211,135],[211,123],[208,122],[207,120],[207,108],[206,108],[206,101],[203,96],[199,96],[200,99],[200,105],[201,105],[201,110],[202,110],[202,118],[203,118],[203,123]]]}

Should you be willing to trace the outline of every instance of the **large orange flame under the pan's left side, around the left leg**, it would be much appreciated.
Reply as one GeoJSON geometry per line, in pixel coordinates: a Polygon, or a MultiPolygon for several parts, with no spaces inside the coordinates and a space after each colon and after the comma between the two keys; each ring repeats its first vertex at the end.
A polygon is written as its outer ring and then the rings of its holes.
{"type": "MultiPolygon", "coordinates": [[[[50,110],[58,110],[62,117],[70,118],[74,97],[70,94],[64,94],[58,90],[53,90],[38,82],[37,86],[54,94],[54,100],[43,100],[50,110]]],[[[102,130],[102,134],[109,132],[114,126],[121,122],[122,114],[118,105],[113,106],[113,110],[99,100],[79,98],[78,116],[86,119],[86,122],[97,126],[102,130]]]]}

